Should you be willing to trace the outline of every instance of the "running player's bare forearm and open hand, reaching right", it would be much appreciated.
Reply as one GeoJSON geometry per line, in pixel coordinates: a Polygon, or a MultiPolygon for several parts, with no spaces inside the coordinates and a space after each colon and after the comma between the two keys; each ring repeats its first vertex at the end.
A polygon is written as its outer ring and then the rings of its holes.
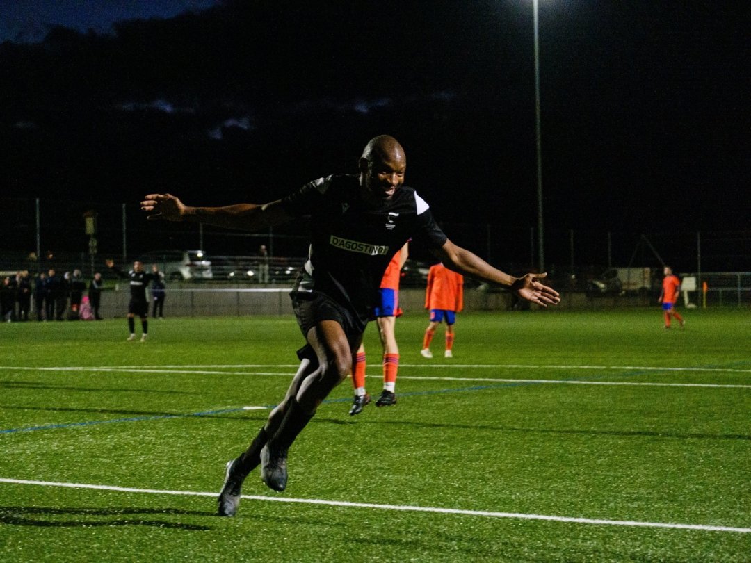
{"type": "Polygon", "coordinates": [[[547,307],[548,305],[557,305],[560,301],[557,291],[541,283],[540,280],[547,276],[546,273],[526,274],[520,278],[514,278],[513,275],[508,275],[490,266],[478,255],[455,245],[450,240],[447,240],[434,254],[448,269],[472,276],[472,278],[502,285],[532,303],[547,307]]]}

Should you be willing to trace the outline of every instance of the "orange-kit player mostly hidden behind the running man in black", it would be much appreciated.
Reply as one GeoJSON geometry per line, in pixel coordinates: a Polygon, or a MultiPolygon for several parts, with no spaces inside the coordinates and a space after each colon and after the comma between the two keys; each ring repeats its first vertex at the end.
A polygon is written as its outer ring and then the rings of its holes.
{"type": "MultiPolygon", "coordinates": [[[[394,254],[391,262],[388,263],[379,289],[379,299],[377,300],[379,305],[375,307],[373,312],[383,345],[383,391],[378,400],[375,401],[376,407],[388,407],[397,403],[397,396],[394,392],[397,386],[397,371],[399,369],[399,347],[397,346],[394,327],[397,324],[397,317],[402,314],[402,310],[399,308],[399,279],[407,256],[409,256],[408,245],[409,242],[397,254],[394,254]]],[[[354,354],[352,366],[354,401],[349,409],[349,414],[354,416],[360,414],[365,405],[370,402],[370,395],[365,390],[366,361],[365,347],[362,344],[354,354]]]]}

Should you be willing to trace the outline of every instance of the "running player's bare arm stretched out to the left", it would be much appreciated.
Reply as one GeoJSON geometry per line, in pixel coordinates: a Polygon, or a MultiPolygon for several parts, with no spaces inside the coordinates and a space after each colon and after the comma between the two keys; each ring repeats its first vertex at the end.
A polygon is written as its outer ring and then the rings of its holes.
{"type": "Polygon", "coordinates": [[[190,221],[239,230],[261,230],[291,220],[279,200],[261,205],[237,203],[224,207],[191,207],[172,194],[149,194],[141,202],[146,218],[190,221]]]}

